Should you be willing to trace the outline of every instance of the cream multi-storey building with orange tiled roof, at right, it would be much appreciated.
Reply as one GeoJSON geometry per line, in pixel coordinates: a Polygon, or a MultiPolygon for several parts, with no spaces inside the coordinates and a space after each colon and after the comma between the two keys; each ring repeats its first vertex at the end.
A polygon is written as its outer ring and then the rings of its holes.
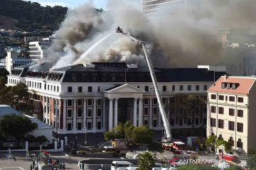
{"type": "Polygon", "coordinates": [[[256,149],[255,80],[223,76],[208,89],[207,136],[214,134],[230,142],[233,153],[256,149]]]}

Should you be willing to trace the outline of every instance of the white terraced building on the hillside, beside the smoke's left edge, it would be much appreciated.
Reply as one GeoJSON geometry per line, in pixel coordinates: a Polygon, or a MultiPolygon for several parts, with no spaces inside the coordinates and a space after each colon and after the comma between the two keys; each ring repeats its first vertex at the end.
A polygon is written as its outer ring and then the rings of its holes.
{"type": "Polygon", "coordinates": [[[29,42],[30,55],[32,60],[42,60],[48,55],[48,47],[51,45],[51,38],[44,38],[41,41],[29,42]]]}

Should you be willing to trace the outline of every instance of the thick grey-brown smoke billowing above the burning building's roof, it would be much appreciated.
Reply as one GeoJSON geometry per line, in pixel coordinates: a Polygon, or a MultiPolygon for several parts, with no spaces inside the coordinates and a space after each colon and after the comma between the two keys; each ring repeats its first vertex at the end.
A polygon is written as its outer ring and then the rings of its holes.
{"type": "Polygon", "coordinates": [[[101,14],[90,4],[69,10],[55,33],[57,39],[50,47],[49,60],[56,62],[55,68],[89,62],[142,64],[142,47],[124,35],[113,33],[120,26],[146,41],[155,67],[216,64],[223,54],[217,39],[219,28],[255,26],[256,1],[188,2],[186,8],[160,8],[158,18],[151,21],[122,0],[109,1],[110,11],[101,14]],[[90,52],[86,52],[88,49],[90,52]],[[80,57],[83,53],[86,55],[80,57]]]}

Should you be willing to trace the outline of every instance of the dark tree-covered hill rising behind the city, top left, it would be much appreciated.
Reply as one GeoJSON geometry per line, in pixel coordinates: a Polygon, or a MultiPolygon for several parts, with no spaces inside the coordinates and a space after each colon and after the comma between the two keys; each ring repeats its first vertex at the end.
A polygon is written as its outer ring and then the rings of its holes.
{"type": "MultiPolygon", "coordinates": [[[[68,8],[46,6],[31,1],[0,0],[0,15],[17,21],[16,27],[25,31],[57,30],[68,8]]],[[[1,23],[1,22],[0,22],[1,23]]]]}

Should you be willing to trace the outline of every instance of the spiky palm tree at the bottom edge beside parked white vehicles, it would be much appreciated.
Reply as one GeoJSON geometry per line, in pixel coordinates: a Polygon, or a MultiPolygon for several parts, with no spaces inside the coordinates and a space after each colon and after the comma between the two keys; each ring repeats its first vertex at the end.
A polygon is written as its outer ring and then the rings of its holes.
{"type": "Polygon", "coordinates": [[[149,152],[144,152],[139,157],[139,170],[151,170],[154,167],[153,155],[149,152]]]}

